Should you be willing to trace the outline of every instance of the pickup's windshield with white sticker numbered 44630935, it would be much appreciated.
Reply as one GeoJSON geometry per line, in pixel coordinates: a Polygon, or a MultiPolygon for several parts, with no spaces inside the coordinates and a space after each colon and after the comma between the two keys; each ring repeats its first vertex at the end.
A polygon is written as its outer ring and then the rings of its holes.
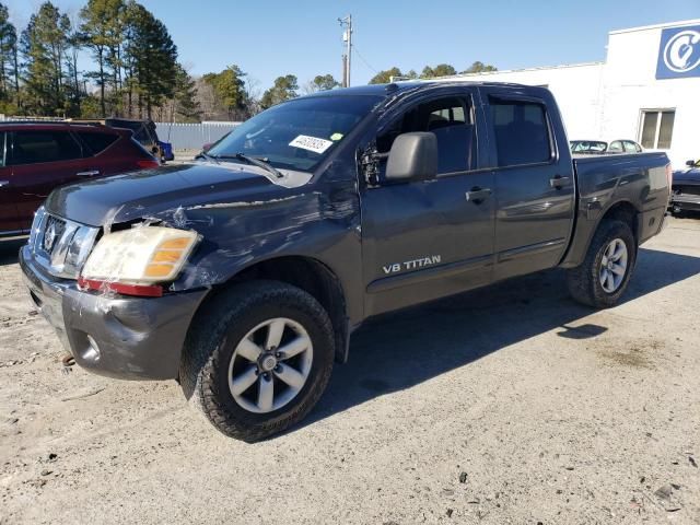
{"type": "Polygon", "coordinates": [[[234,128],[207,155],[243,153],[275,167],[313,171],[382,100],[338,95],[290,101],[234,128]]]}

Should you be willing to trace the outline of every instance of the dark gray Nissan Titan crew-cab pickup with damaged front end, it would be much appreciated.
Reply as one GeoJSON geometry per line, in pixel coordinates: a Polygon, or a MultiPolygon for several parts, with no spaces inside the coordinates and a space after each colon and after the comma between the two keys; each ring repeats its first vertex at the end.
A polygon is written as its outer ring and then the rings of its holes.
{"type": "Polygon", "coordinates": [[[614,305],[669,177],[663,153],[572,160],[546,89],[334,90],[192,163],[54,191],[20,260],[80,365],[177,380],[256,441],[312,409],[369,317],[555,267],[614,305]]]}

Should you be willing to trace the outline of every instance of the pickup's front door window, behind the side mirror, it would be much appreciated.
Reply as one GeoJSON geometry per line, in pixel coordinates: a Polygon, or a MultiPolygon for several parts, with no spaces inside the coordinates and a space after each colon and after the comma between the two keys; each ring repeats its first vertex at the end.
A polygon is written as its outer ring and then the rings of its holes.
{"type": "Polygon", "coordinates": [[[377,151],[388,153],[396,137],[412,131],[435,135],[438,174],[465,172],[476,166],[476,133],[470,106],[465,98],[438,98],[409,109],[377,137],[377,151]]]}

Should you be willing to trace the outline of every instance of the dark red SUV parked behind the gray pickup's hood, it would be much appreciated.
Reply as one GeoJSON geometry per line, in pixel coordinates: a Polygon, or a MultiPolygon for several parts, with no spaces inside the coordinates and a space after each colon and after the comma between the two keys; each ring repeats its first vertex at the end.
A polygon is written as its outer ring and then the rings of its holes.
{"type": "Polygon", "coordinates": [[[62,122],[0,124],[0,236],[28,233],[57,186],[156,167],[131,130],[62,122]]]}

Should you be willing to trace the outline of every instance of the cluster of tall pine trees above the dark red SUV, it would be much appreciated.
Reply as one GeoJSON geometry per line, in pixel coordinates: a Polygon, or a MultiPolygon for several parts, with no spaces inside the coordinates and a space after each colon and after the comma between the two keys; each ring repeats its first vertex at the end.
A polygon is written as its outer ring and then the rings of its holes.
{"type": "Polygon", "coordinates": [[[166,100],[187,112],[183,73],[167,28],[135,0],[89,0],[74,20],[47,1],[21,32],[0,4],[2,113],[150,117],[166,100]],[[83,50],[94,70],[79,70],[83,50]]]}

